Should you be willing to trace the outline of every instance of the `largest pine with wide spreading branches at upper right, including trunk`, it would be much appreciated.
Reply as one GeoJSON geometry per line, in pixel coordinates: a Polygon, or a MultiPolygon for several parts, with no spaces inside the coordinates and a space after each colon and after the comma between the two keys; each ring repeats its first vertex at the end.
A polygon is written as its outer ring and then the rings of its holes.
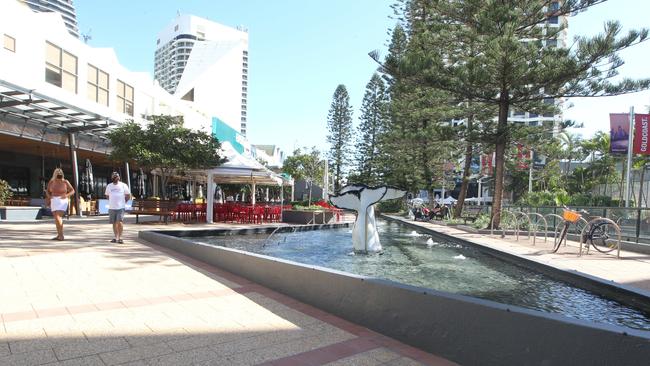
{"type": "MultiPolygon", "coordinates": [[[[579,37],[570,49],[555,47],[565,31],[563,20],[604,0],[407,0],[428,18],[419,37],[423,52],[406,64],[420,69],[421,80],[454,99],[498,109],[496,123],[484,125],[485,140],[496,154],[492,215],[499,225],[504,191],[505,157],[513,141],[511,109],[555,111],[553,100],[602,97],[650,87],[650,80],[612,81],[623,64],[619,51],[644,41],[648,31],[621,36],[618,22],[604,32],[579,37]],[[448,45],[453,45],[449,47],[448,45]],[[471,49],[470,49],[471,48],[471,49]],[[468,57],[472,55],[472,57],[468,57]],[[551,103],[548,103],[550,101],[551,103]]],[[[412,17],[404,12],[405,19],[412,17]]]]}

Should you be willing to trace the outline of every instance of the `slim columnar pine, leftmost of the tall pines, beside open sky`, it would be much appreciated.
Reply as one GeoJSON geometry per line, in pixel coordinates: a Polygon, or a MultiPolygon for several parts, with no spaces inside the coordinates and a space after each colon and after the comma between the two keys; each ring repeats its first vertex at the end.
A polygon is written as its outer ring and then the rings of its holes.
{"type": "Polygon", "coordinates": [[[350,161],[350,143],[352,139],[352,106],[350,96],[341,84],[336,87],[332,96],[332,104],[327,115],[330,144],[328,158],[334,171],[334,190],[338,191],[350,161]]]}

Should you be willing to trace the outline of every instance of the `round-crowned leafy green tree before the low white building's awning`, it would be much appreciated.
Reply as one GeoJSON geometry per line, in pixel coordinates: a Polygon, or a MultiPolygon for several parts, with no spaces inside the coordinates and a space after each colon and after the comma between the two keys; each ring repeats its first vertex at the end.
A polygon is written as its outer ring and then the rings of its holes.
{"type": "Polygon", "coordinates": [[[214,168],[224,162],[219,156],[219,141],[205,132],[185,128],[182,116],[150,116],[144,126],[127,121],[112,129],[108,137],[113,146],[111,159],[159,169],[163,187],[174,171],[214,168]]]}

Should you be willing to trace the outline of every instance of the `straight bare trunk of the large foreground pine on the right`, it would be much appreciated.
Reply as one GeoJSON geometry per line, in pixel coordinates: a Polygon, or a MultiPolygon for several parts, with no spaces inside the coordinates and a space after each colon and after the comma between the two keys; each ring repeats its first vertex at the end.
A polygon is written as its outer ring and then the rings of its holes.
{"type": "Polygon", "coordinates": [[[508,129],[508,92],[501,90],[501,101],[499,102],[499,122],[497,124],[497,136],[494,146],[494,199],[492,201],[492,223],[495,228],[501,223],[501,204],[503,198],[503,178],[506,155],[506,133],[508,129]]]}

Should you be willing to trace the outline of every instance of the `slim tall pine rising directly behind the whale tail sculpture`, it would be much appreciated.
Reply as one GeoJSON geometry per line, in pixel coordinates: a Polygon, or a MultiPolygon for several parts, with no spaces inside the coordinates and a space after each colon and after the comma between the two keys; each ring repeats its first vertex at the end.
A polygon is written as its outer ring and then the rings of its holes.
{"type": "Polygon", "coordinates": [[[356,179],[360,183],[374,185],[379,183],[381,178],[378,162],[379,140],[386,129],[388,119],[386,86],[377,73],[372,75],[366,85],[366,93],[361,103],[360,119],[355,151],[356,179]]]}

